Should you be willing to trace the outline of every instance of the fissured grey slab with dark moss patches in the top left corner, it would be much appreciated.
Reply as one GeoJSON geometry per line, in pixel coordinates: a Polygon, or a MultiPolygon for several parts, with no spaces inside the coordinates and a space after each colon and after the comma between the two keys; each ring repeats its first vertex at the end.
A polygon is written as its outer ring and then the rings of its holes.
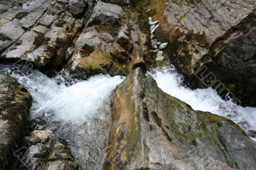
{"type": "Polygon", "coordinates": [[[81,32],[84,20],[88,19],[84,15],[90,16],[90,12],[86,13],[86,2],[41,0],[15,6],[3,13],[0,17],[0,59],[28,61],[51,76],[66,63],[67,50],[81,32]]]}

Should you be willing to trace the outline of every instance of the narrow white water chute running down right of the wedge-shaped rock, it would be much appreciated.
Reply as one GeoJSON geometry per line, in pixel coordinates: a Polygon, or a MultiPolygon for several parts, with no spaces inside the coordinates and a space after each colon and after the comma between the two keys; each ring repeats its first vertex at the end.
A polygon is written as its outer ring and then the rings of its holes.
{"type": "Polygon", "coordinates": [[[148,73],[165,93],[191,105],[194,110],[212,112],[237,123],[256,141],[256,107],[241,107],[223,100],[215,89],[190,89],[182,86],[182,76],[175,68],[163,68],[148,73]]]}

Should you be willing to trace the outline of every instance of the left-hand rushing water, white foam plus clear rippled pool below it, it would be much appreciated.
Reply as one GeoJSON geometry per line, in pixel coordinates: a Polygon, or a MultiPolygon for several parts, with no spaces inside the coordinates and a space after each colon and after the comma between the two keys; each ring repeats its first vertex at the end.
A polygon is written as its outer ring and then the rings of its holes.
{"type": "Polygon", "coordinates": [[[65,139],[81,169],[99,164],[111,125],[111,93],[124,77],[95,75],[78,81],[63,71],[50,79],[37,70],[6,65],[0,65],[0,72],[9,73],[28,89],[33,98],[31,120],[65,139]]]}

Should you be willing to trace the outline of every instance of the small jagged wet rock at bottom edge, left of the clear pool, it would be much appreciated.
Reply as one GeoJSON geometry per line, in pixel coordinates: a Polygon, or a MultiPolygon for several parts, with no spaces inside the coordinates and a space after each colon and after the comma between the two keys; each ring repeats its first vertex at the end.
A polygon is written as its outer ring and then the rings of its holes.
{"type": "MultiPolygon", "coordinates": [[[[44,133],[44,131],[42,131],[44,133]]],[[[68,143],[61,138],[42,144],[37,142],[26,147],[18,156],[22,164],[16,169],[78,169],[68,143]]]]}

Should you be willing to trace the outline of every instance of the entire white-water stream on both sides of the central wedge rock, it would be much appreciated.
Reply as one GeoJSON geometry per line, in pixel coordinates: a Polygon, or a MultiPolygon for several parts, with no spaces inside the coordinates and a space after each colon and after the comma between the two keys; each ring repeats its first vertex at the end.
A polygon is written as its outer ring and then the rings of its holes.
{"type": "MultiPolygon", "coordinates": [[[[72,79],[62,70],[52,79],[38,70],[15,65],[1,65],[25,86],[33,98],[30,120],[37,127],[51,129],[54,137],[65,139],[81,169],[102,166],[111,126],[111,94],[125,77],[95,75],[86,81],[72,79]]],[[[236,122],[256,141],[256,108],[241,107],[225,101],[214,89],[189,89],[182,85],[182,75],[175,68],[148,72],[164,92],[179,98],[195,110],[212,112],[236,122]]]]}

